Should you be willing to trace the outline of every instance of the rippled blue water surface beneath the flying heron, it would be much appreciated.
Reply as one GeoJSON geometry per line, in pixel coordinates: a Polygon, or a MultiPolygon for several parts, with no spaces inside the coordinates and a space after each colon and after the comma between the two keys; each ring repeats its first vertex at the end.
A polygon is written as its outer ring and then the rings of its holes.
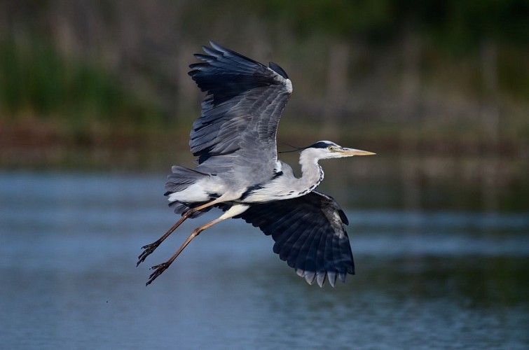
{"type": "MultiPolygon", "coordinates": [[[[348,210],[357,275],[308,286],[242,221],[176,216],[163,176],[0,174],[5,349],[528,349],[529,216],[348,210]]],[[[363,188],[364,191],[369,188],[363,188]]]]}

